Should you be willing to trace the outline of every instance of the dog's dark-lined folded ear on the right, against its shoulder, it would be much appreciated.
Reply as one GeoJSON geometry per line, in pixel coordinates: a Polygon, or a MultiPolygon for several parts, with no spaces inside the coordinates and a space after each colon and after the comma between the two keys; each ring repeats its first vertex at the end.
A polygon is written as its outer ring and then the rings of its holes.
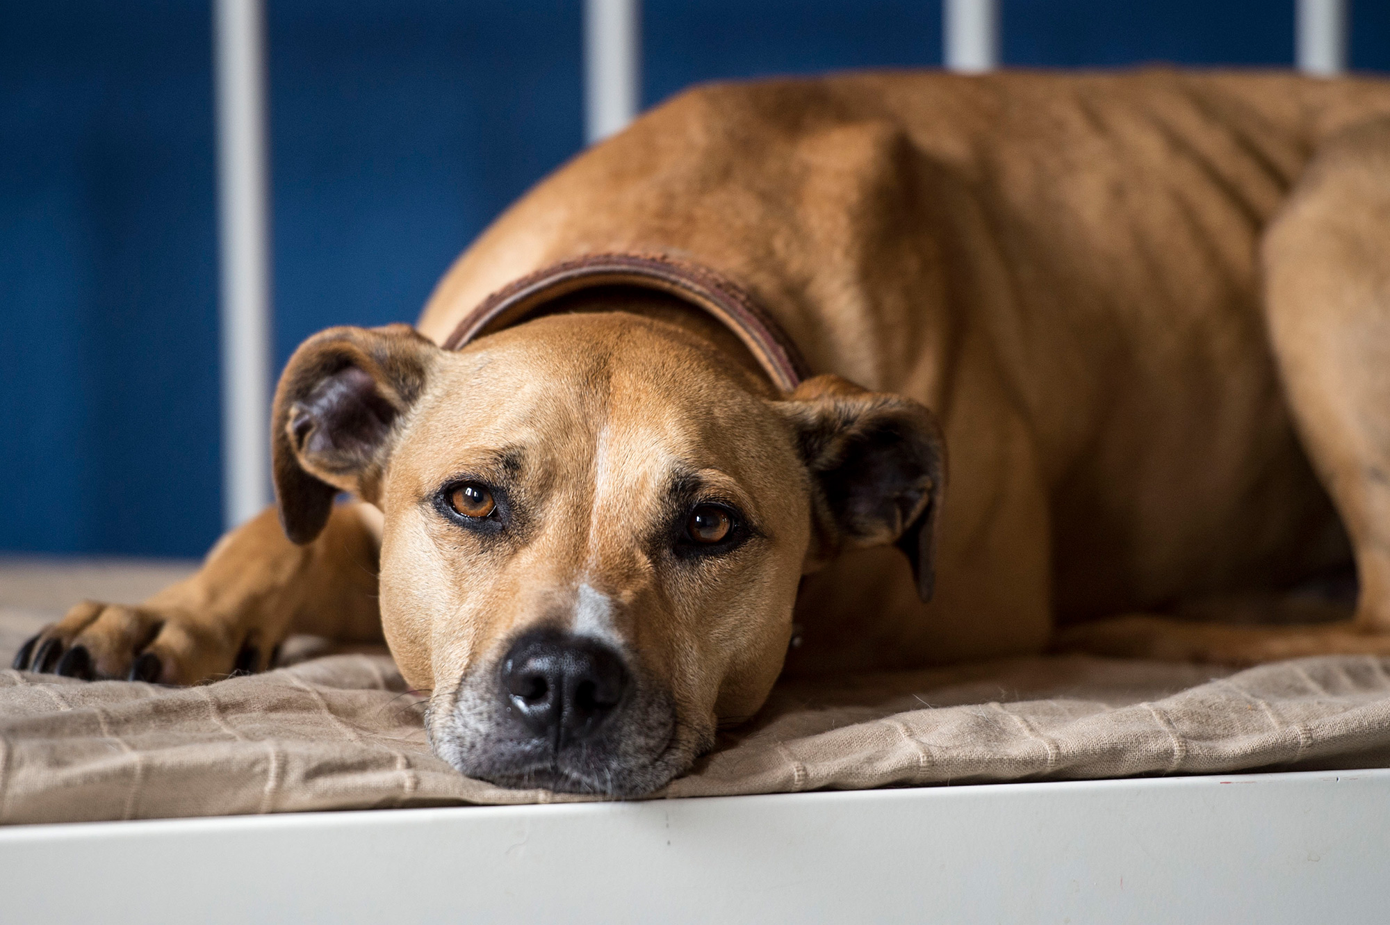
{"type": "Polygon", "coordinates": [[[817,489],[817,557],[895,542],[922,600],[931,600],[947,482],[945,444],[931,411],[834,375],[808,379],[776,406],[791,419],[817,489]]]}

